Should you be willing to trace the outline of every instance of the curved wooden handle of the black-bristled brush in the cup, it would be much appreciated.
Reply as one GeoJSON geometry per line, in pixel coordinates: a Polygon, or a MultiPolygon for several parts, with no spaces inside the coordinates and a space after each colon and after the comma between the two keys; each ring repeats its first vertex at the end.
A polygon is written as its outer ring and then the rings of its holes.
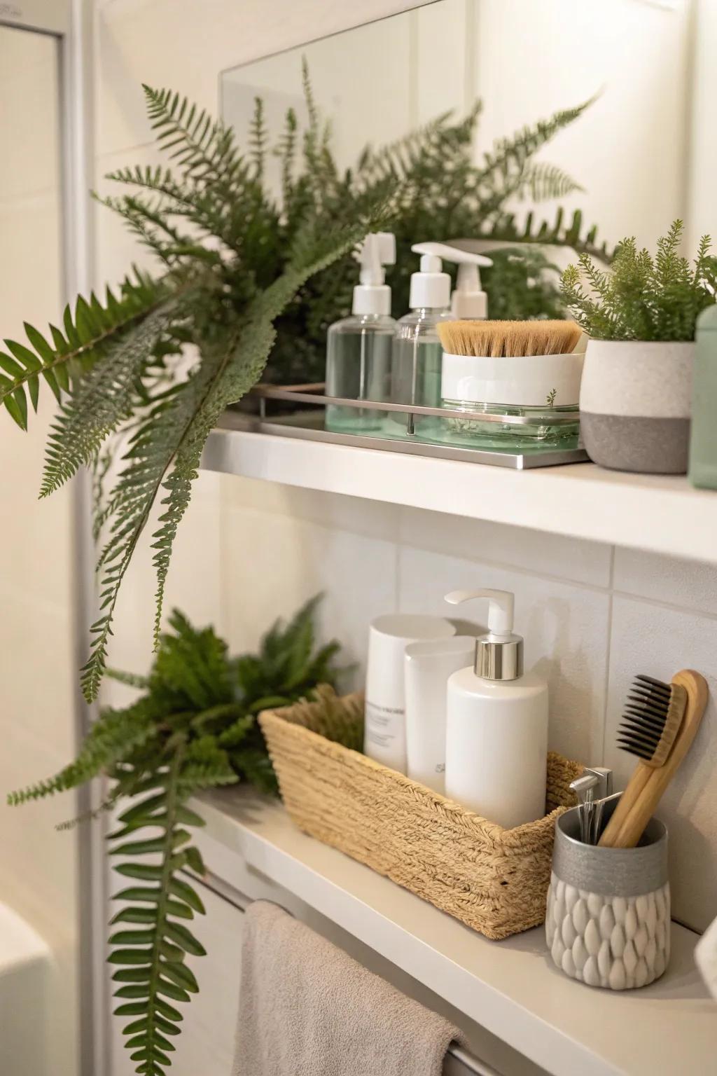
{"type": "MultiPolygon", "coordinates": [[[[636,798],[630,798],[628,810],[621,817],[620,824],[616,833],[611,836],[610,848],[634,848],[642,837],[645,826],[655,813],[655,808],[662,798],[664,790],[674,777],[679,764],[692,746],[702,714],[705,711],[708,697],[707,683],[704,677],[692,669],[683,669],[672,678],[673,683],[682,684],[687,691],[687,707],[685,717],[679,726],[679,732],[675,737],[672,750],[666,762],[658,769],[648,769],[647,781],[643,783],[642,791],[636,798]]],[[[636,775],[635,775],[636,776],[636,775]]],[[[632,782],[630,782],[632,783],[632,782]]],[[[629,788],[629,785],[628,785],[629,788]]],[[[627,790],[626,790],[627,791],[627,790]]],[[[615,816],[613,816],[614,818],[615,816]]],[[[611,819],[612,822],[612,819],[611,819]]],[[[605,834],[607,829],[605,830],[605,834]]],[[[603,834],[603,837],[605,836],[603,834]]],[[[603,845],[601,838],[600,844],[603,845]]]]}

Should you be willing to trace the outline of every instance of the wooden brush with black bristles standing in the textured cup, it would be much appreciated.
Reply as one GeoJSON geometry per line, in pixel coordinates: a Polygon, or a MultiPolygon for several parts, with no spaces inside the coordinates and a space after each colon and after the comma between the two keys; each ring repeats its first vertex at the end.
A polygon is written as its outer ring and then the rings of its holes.
{"type": "Polygon", "coordinates": [[[692,745],[707,696],[704,677],[692,669],[675,674],[671,683],[635,677],[617,742],[640,761],[600,837],[602,848],[634,848],[639,843],[692,745]]]}

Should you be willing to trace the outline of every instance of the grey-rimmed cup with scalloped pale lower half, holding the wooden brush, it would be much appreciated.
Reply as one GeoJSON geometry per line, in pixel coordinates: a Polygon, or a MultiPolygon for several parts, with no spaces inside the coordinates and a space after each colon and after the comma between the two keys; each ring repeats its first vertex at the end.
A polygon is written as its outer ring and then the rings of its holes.
{"type": "MultiPolygon", "coordinates": [[[[618,799],[606,803],[605,820],[618,799]]],[[[645,987],[670,961],[668,831],[651,819],[637,848],[599,848],[578,836],[573,808],[556,822],[545,919],[553,961],[591,987],[645,987]]]]}

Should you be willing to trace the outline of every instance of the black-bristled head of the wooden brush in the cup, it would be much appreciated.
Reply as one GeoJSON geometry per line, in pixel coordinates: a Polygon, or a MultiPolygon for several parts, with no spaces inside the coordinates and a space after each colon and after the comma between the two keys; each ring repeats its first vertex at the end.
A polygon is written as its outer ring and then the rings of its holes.
{"type": "Polygon", "coordinates": [[[642,759],[648,766],[663,766],[686,705],[687,692],[679,684],[636,676],[618,728],[618,747],[642,759]]]}

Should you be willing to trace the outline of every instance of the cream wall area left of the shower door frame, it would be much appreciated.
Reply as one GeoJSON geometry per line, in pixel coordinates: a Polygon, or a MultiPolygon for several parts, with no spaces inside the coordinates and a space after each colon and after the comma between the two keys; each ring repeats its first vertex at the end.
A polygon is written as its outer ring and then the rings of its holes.
{"type": "MultiPolygon", "coordinates": [[[[0,28],[0,334],[16,340],[23,320],[43,326],[62,308],[56,47],[0,28]]],[[[0,415],[0,901],[52,946],[47,1071],[76,1076],[76,835],[55,832],[76,815],[75,797],[4,802],[75,751],[70,495],[38,500],[53,413],[44,385],[41,396],[28,434],[0,415]]],[[[37,1028],[44,1034],[40,1014],[37,1028]]]]}

